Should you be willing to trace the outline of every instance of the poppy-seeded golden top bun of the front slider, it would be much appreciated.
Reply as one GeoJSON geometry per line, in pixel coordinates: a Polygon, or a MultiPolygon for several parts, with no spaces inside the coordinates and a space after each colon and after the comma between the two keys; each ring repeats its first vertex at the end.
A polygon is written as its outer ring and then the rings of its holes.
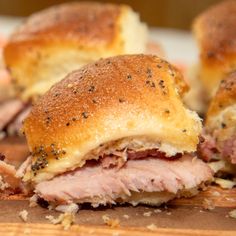
{"type": "Polygon", "coordinates": [[[142,141],[144,148],[154,142],[167,156],[195,151],[201,121],[182,103],[186,90],[176,68],[150,55],[101,59],[70,73],[24,122],[33,156],[24,180],[83,166],[98,159],[91,157],[95,149],[121,139],[142,141]]]}

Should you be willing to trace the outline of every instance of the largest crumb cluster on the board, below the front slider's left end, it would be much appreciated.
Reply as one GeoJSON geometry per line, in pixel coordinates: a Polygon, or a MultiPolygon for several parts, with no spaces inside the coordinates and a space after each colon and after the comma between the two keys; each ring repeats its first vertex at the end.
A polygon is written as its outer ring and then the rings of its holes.
{"type": "Polygon", "coordinates": [[[68,230],[75,221],[75,214],[66,212],[60,214],[57,218],[52,215],[47,215],[45,218],[49,220],[52,224],[61,224],[64,230],[68,230]]]}

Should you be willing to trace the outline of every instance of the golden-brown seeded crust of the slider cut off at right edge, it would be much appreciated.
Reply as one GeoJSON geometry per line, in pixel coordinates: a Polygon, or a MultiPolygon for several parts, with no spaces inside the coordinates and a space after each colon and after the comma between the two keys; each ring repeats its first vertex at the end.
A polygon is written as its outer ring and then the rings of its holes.
{"type": "Polygon", "coordinates": [[[218,91],[209,106],[206,124],[210,123],[210,120],[219,115],[221,111],[224,111],[227,107],[235,104],[236,72],[233,72],[221,81],[218,91]]]}

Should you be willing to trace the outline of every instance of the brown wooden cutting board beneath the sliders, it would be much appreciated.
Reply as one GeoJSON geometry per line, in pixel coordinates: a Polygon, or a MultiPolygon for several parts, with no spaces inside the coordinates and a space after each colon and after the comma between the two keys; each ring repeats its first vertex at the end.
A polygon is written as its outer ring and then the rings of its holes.
{"type": "MultiPolygon", "coordinates": [[[[11,138],[1,141],[0,153],[22,158],[28,150],[25,141],[11,138]]],[[[236,235],[236,219],[228,213],[236,209],[236,188],[222,190],[211,186],[191,199],[177,199],[160,208],[128,205],[113,208],[82,208],[76,215],[75,224],[69,230],[52,225],[45,217],[57,217],[58,212],[42,207],[30,208],[28,200],[21,195],[0,200],[0,235],[236,235]],[[208,199],[214,209],[206,210],[208,199]],[[19,212],[28,211],[23,222],[19,212]],[[157,209],[160,209],[157,211],[157,209]],[[119,226],[110,228],[102,217],[119,219],[119,226]],[[155,225],[151,227],[150,225],[155,225]],[[155,228],[155,229],[154,229],[155,228]]]]}

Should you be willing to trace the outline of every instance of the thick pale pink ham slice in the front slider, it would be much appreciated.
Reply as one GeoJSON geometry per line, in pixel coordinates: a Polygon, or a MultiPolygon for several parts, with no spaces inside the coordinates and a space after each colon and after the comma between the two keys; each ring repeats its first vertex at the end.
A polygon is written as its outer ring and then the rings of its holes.
{"type": "Polygon", "coordinates": [[[103,203],[104,199],[112,203],[117,196],[131,195],[131,191],[177,193],[211,178],[212,171],[203,161],[187,155],[176,160],[145,158],[128,160],[120,169],[87,165],[37,184],[35,192],[49,202],[83,202],[98,197],[103,203]]]}

